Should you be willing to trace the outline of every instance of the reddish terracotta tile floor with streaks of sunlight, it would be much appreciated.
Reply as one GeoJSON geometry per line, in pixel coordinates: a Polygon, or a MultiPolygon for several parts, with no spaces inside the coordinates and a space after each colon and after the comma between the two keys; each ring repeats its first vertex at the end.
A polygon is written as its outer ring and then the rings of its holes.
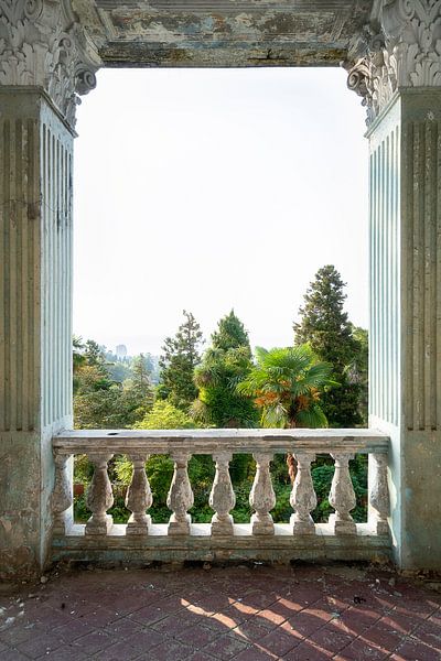
{"type": "Polygon", "coordinates": [[[3,587],[0,659],[441,660],[439,585],[362,565],[75,570],[3,587]]]}

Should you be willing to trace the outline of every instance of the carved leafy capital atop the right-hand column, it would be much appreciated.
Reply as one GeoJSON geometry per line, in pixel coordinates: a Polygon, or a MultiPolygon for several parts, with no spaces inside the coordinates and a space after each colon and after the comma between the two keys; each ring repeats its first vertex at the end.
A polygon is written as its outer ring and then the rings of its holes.
{"type": "Polygon", "coordinates": [[[441,0],[380,0],[352,62],[347,85],[363,97],[367,123],[402,87],[441,87],[441,0]]]}

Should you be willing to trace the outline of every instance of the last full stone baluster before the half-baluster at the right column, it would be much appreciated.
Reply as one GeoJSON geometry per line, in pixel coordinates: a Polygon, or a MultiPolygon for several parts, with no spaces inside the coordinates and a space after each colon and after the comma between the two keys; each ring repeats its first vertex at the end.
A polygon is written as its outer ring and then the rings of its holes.
{"type": "Polygon", "coordinates": [[[335,460],[335,472],[332,479],[330,503],[335,514],[330,516],[330,524],[334,534],[355,534],[357,529],[349,511],[356,505],[354,487],[349,475],[349,460],[354,455],[331,454],[335,460]]]}

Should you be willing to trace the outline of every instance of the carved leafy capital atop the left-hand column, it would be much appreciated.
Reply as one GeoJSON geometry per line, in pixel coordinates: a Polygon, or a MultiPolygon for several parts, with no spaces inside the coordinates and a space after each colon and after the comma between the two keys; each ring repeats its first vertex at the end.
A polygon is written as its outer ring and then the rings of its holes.
{"type": "Polygon", "coordinates": [[[0,0],[0,85],[43,87],[74,128],[99,65],[71,0],[0,0]]]}

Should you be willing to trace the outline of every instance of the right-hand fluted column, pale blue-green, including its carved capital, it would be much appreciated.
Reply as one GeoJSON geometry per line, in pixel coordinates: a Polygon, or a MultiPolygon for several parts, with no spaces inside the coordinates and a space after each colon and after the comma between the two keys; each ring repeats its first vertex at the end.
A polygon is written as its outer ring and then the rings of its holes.
{"type": "MultiPolygon", "coordinates": [[[[439,570],[441,0],[379,2],[372,34],[348,78],[368,111],[369,421],[391,437],[396,560],[406,568],[439,570]]],[[[387,517],[383,500],[374,523],[387,517]]]]}

